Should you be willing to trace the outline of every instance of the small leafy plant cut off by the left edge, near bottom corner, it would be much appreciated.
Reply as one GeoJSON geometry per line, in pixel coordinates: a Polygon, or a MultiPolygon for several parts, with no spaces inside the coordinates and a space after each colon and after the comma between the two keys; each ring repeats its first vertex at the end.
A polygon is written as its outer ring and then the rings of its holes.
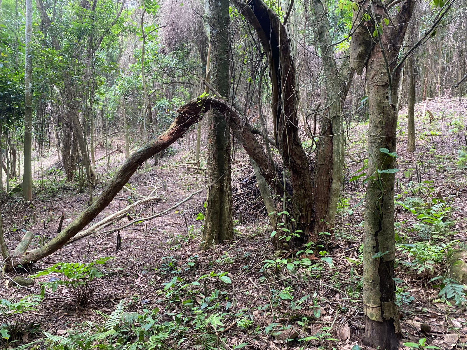
{"type": "Polygon", "coordinates": [[[27,295],[17,302],[0,299],[1,337],[7,342],[21,339],[21,334],[27,330],[28,313],[37,311],[41,300],[42,296],[36,294],[27,295]]]}

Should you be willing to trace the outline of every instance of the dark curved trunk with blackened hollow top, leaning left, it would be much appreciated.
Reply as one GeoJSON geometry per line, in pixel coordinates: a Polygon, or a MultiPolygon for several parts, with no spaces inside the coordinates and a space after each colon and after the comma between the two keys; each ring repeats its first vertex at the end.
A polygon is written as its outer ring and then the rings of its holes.
{"type": "MultiPolygon", "coordinates": [[[[293,186],[290,225],[292,249],[313,237],[313,186],[310,164],[298,137],[298,91],[295,62],[291,56],[290,40],[283,23],[262,0],[244,3],[234,0],[239,12],[255,28],[269,61],[272,84],[272,116],[277,147],[284,165],[289,169],[293,186]]],[[[275,241],[278,243],[278,241],[275,241]]],[[[280,249],[282,245],[276,245],[280,249]]]]}

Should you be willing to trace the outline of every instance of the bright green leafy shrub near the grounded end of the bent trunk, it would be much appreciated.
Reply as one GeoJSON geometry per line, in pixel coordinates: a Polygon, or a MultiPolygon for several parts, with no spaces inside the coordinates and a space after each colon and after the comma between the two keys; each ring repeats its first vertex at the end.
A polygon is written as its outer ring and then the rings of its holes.
{"type": "Polygon", "coordinates": [[[104,273],[100,272],[96,266],[105,264],[109,259],[113,259],[113,257],[99,258],[85,264],[59,262],[36,273],[32,278],[48,276],[51,273],[64,275],[64,280],[53,279],[49,282],[39,282],[42,285],[42,293],[44,288],[50,288],[55,292],[58,286],[69,287],[73,293],[76,306],[82,308],[88,304],[92,297],[94,280],[104,276],[104,273]]]}

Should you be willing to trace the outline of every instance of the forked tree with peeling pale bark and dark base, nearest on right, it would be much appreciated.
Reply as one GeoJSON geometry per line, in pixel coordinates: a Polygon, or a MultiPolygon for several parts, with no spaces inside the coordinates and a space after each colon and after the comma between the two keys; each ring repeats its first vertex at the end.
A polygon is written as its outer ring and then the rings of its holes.
{"type": "MultiPolygon", "coordinates": [[[[368,3],[365,0],[360,4],[366,7],[368,3]]],[[[397,98],[399,84],[400,65],[397,65],[397,58],[414,4],[415,0],[402,3],[399,13],[390,17],[391,25],[384,26],[383,34],[376,36],[376,44],[372,43],[373,30],[367,28],[361,36],[352,36],[351,42],[351,64],[360,71],[364,65],[367,66],[370,114],[369,178],[363,238],[363,343],[386,350],[398,349],[401,336],[394,282],[397,113],[392,101],[397,98]]],[[[370,13],[380,24],[386,17],[381,4],[371,3],[370,13]]],[[[358,16],[357,23],[361,22],[361,14],[358,16]]]]}

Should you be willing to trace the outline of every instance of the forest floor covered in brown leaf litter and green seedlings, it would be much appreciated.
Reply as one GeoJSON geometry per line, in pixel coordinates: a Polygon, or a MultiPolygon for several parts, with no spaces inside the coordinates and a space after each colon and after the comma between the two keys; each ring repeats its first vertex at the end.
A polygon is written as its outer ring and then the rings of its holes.
{"type": "MultiPolygon", "coordinates": [[[[411,349],[404,342],[418,343],[422,338],[426,345],[440,349],[464,349],[466,296],[447,271],[452,252],[467,249],[467,114],[459,100],[449,98],[426,105],[432,120],[429,113],[421,115],[424,108],[416,106],[416,152],[406,152],[404,110],[398,125],[395,228],[401,349],[411,349]],[[454,292],[446,295],[449,284],[454,292]]],[[[129,213],[130,219],[161,212],[201,191],[161,217],[121,229],[121,251],[116,251],[117,231],[103,231],[129,223],[127,217],[38,262],[29,273],[61,261],[85,263],[115,257],[103,266],[107,275],[95,280],[86,308],[73,305],[70,287],[59,287],[55,293],[47,291],[28,322],[58,336],[54,339],[60,343],[60,337],[71,335],[77,323],[99,324],[106,319],[94,310],[110,314],[119,305],[127,312],[146,315],[144,322],[148,315],[154,318],[158,328],[152,330],[160,335],[155,341],[163,349],[365,349],[361,344],[365,176],[355,177],[365,171],[361,168],[367,158],[367,131],[368,124],[361,122],[348,133],[344,194],[326,251],[304,252],[296,259],[273,257],[271,229],[266,217],[258,214],[262,205],[255,204],[258,193],[251,191],[252,170],[241,151],[233,161],[235,237],[228,244],[200,251],[202,220],[197,218],[204,212],[205,173],[183,165],[192,155],[176,145],[174,155],[164,156],[156,167],[143,166],[131,178],[127,187],[132,191],[148,196],[156,188],[163,200],[138,206],[129,213]],[[241,222],[239,208],[247,208],[241,209],[241,222]],[[148,311],[155,308],[157,315],[148,311]]],[[[96,159],[106,152],[97,148],[96,159]]],[[[55,162],[50,155],[44,169],[55,162]]],[[[112,154],[109,162],[98,162],[97,173],[112,176],[123,161],[124,155],[112,154]]],[[[62,212],[65,226],[86,208],[88,195],[77,194],[76,184],[64,183],[57,173],[47,177],[36,182],[31,205],[16,194],[0,194],[1,203],[6,204],[2,214],[10,248],[25,229],[36,235],[32,248],[47,242],[56,234],[62,212]]],[[[102,189],[98,185],[95,195],[102,189]]],[[[138,199],[122,190],[93,223],[138,199]]],[[[43,276],[33,286],[18,288],[9,280],[14,276],[2,277],[2,298],[40,294],[38,282],[60,278],[43,276]]],[[[21,341],[28,343],[39,331],[25,334],[21,341]]]]}

